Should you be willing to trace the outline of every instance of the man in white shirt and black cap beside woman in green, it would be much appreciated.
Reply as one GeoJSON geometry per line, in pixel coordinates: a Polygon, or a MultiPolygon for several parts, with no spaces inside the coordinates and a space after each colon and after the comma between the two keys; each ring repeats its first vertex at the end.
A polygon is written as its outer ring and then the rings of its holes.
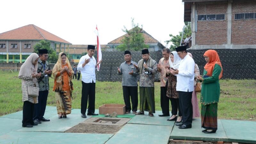
{"type": "Polygon", "coordinates": [[[180,111],[182,113],[182,122],[175,124],[180,129],[192,127],[192,92],[194,91],[194,71],[195,61],[188,55],[186,46],[179,46],[176,51],[179,57],[180,66],[177,70],[171,70],[171,73],[177,76],[176,91],[179,92],[180,111]]]}

